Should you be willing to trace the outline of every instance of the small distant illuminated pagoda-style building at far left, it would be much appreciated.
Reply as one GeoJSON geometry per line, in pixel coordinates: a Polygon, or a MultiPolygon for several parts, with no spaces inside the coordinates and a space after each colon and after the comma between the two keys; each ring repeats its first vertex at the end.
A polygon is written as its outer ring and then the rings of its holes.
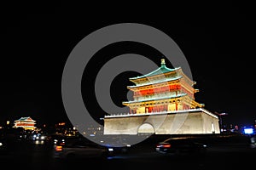
{"type": "Polygon", "coordinates": [[[35,130],[37,127],[35,127],[36,121],[32,120],[30,116],[27,117],[21,117],[18,120],[15,120],[15,126],[14,127],[22,127],[25,130],[35,130]]]}

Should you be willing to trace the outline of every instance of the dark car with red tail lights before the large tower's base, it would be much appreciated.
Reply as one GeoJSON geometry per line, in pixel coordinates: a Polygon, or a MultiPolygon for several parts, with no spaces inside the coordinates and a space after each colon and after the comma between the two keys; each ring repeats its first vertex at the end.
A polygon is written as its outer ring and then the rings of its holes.
{"type": "Polygon", "coordinates": [[[193,139],[168,138],[156,144],[155,150],[162,154],[206,154],[207,144],[193,139]]]}

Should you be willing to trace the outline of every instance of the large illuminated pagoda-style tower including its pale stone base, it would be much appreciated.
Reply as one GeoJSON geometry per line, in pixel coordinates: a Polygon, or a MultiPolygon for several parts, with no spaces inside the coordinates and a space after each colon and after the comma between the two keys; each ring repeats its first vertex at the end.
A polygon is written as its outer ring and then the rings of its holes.
{"type": "Polygon", "coordinates": [[[124,101],[127,114],[104,116],[104,134],[202,134],[220,133],[218,116],[195,101],[195,82],[180,67],[166,67],[129,79],[133,100],[124,101]]]}

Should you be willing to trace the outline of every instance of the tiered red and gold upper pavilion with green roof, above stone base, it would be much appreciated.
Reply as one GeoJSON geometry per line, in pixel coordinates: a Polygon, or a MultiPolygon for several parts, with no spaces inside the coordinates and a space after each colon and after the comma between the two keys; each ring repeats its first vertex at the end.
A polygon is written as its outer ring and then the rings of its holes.
{"type": "Polygon", "coordinates": [[[141,77],[129,79],[135,85],[127,88],[133,91],[132,101],[123,105],[130,108],[130,113],[156,113],[163,111],[183,111],[201,108],[204,105],[195,101],[195,82],[187,77],[180,67],[166,67],[161,59],[160,67],[141,77]]]}

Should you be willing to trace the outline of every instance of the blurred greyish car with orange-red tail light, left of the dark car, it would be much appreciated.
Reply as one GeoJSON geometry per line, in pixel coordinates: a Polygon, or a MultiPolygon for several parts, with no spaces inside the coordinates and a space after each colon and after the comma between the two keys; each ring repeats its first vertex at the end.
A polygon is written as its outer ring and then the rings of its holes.
{"type": "Polygon", "coordinates": [[[54,157],[67,161],[90,158],[107,160],[112,151],[112,148],[96,144],[88,139],[67,139],[65,144],[55,145],[54,157]]]}

